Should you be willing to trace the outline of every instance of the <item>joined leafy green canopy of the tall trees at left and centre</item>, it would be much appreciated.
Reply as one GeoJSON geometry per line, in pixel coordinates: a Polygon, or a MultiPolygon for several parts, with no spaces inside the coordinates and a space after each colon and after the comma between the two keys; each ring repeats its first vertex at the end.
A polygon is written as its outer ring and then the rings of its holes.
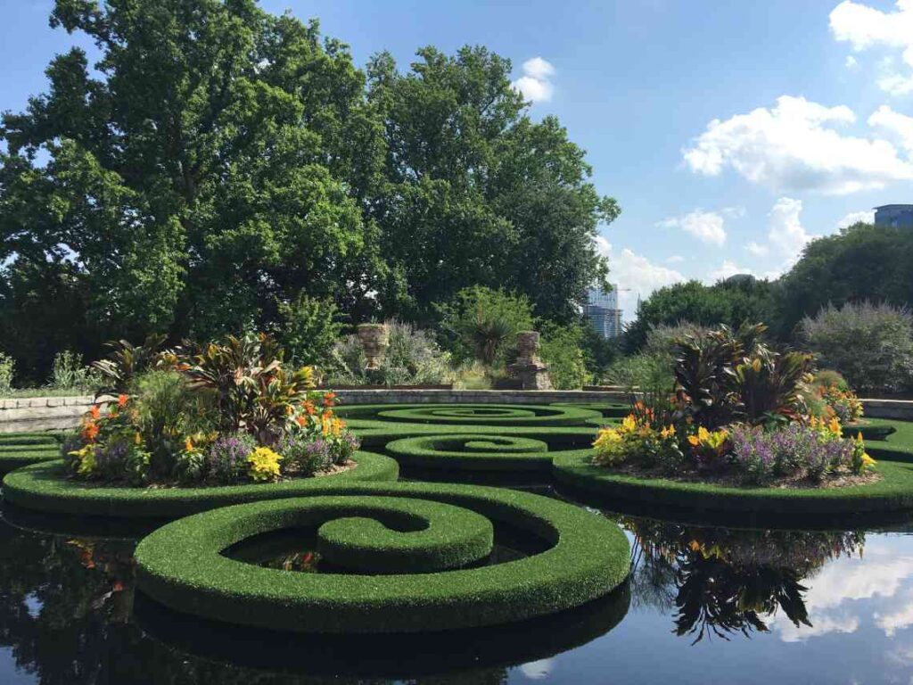
{"type": "Polygon", "coordinates": [[[208,337],[302,295],[352,321],[434,316],[473,285],[571,320],[614,199],[510,62],[418,51],[365,71],[255,0],[57,0],[90,37],[0,123],[0,348],[38,374],[113,337],[208,337]]]}

